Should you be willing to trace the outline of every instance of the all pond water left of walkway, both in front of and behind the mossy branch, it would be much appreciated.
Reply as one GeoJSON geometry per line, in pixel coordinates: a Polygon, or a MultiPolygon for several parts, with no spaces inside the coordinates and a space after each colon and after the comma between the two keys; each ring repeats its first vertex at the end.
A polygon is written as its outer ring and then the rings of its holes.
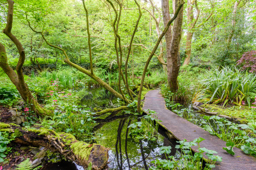
{"type": "MultiPolygon", "coordinates": [[[[121,103],[104,89],[92,89],[81,100],[82,105],[92,108],[118,107],[121,103]]],[[[101,117],[102,118],[102,117],[101,117]]],[[[159,128],[158,138],[152,140],[134,140],[127,133],[128,123],[137,122],[137,116],[126,114],[109,115],[102,119],[97,118],[97,126],[94,128],[95,141],[100,145],[110,148],[108,170],[143,170],[149,169],[153,164],[152,160],[164,159],[165,156],[159,154],[162,146],[172,146],[172,153],[176,158],[179,151],[175,149],[177,145],[175,139],[169,139],[164,129],[159,128]]],[[[68,161],[60,163],[48,163],[42,170],[84,170],[79,165],[68,161]]]]}

